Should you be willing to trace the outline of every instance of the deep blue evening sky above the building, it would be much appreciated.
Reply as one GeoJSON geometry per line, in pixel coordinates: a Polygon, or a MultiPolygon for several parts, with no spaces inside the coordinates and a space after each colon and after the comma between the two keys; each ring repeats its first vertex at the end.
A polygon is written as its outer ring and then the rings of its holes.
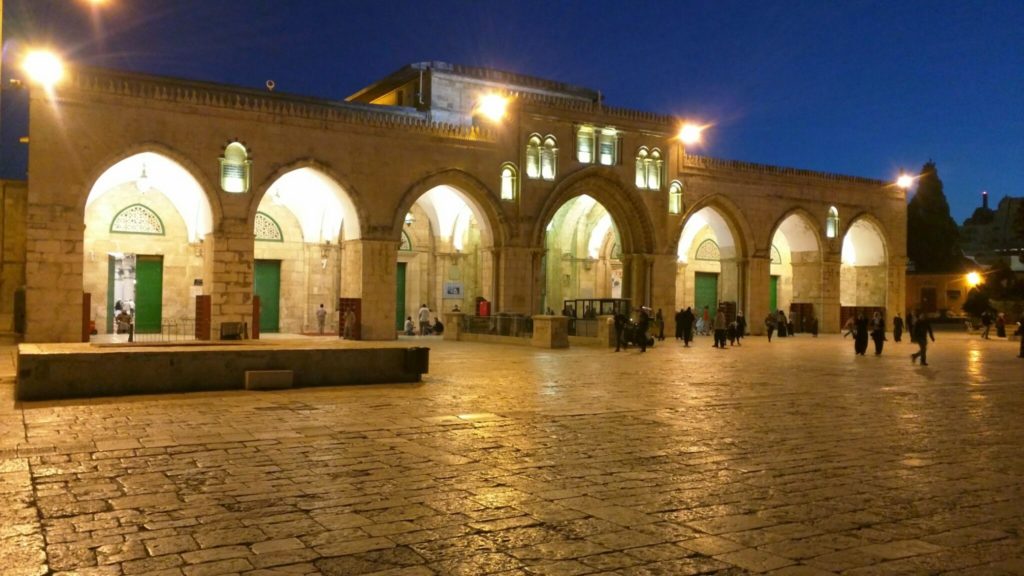
{"type": "MultiPolygon", "coordinates": [[[[957,222],[983,190],[1024,196],[1022,0],[6,0],[3,42],[4,77],[45,42],[339,99],[414,61],[490,67],[714,124],[699,153],[718,158],[882,179],[933,159],[957,222]]],[[[4,90],[8,177],[24,101],[4,90]]]]}

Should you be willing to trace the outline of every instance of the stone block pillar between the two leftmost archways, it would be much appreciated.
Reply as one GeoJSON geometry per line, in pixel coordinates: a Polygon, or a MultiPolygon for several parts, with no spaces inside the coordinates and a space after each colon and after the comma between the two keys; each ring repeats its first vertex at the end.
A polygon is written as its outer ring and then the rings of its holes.
{"type": "Polygon", "coordinates": [[[224,322],[244,322],[252,328],[254,239],[243,218],[225,217],[219,231],[207,235],[206,243],[212,246],[205,264],[211,280],[208,293],[214,334],[220,333],[224,322]]]}

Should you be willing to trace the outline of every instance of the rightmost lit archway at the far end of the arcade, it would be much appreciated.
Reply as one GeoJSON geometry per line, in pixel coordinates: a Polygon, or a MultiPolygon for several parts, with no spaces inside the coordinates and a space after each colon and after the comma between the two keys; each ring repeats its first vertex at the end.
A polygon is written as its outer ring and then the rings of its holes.
{"type": "Polygon", "coordinates": [[[888,257],[881,229],[869,218],[854,220],[843,237],[840,265],[840,322],[863,312],[886,317],[889,290],[888,257]]]}

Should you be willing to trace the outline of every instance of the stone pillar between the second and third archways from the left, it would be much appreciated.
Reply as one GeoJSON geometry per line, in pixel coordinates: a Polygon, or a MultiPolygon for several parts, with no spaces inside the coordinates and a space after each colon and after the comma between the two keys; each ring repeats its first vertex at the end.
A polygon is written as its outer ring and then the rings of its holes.
{"type": "Polygon", "coordinates": [[[361,300],[361,339],[394,340],[395,283],[398,243],[393,240],[349,240],[342,251],[345,262],[343,298],[361,300]]]}

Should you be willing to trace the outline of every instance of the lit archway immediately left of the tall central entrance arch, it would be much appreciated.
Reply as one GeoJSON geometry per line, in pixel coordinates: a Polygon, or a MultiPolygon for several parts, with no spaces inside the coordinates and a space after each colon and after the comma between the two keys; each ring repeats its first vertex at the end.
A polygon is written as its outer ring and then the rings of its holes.
{"type": "MultiPolygon", "coordinates": [[[[483,210],[461,188],[437,184],[407,212],[398,246],[395,329],[422,305],[430,320],[455,307],[474,314],[494,299],[494,236],[483,210]]],[[[488,308],[489,311],[489,308],[488,308]]]]}

